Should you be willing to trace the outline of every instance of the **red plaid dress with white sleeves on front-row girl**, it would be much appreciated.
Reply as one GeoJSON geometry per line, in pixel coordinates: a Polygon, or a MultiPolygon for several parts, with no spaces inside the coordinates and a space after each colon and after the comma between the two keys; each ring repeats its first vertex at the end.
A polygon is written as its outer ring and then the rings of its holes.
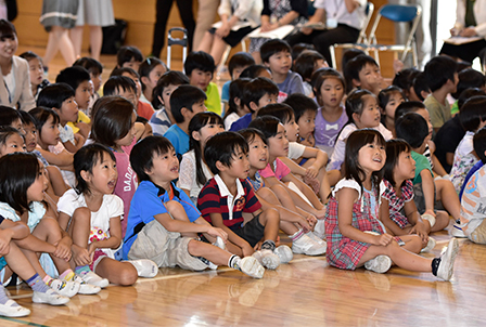
{"type": "MultiPolygon", "coordinates": [[[[325,238],[328,240],[327,259],[329,264],[338,269],[355,270],[359,260],[364,254],[370,244],[357,241],[341,234],[337,220],[337,200],[335,194],[341,188],[354,188],[358,191],[358,200],[353,205],[351,225],[362,232],[372,231],[380,234],[384,233],[381,221],[378,220],[380,211],[380,201],[374,206],[374,212],[371,210],[371,193],[363,192],[355,180],[341,180],[329,200],[328,211],[325,213],[325,238]]],[[[383,182],[380,184],[380,194],[384,191],[383,182]]],[[[373,191],[373,196],[376,192],[373,191]]]]}

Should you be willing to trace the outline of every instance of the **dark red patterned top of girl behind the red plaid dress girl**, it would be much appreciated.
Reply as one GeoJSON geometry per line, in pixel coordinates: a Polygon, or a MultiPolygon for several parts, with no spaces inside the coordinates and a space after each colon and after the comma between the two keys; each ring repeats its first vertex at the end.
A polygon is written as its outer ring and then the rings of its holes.
{"type": "Polygon", "coordinates": [[[400,187],[401,196],[398,197],[392,184],[386,180],[383,180],[383,182],[386,189],[383,192],[382,197],[388,200],[389,219],[393,220],[400,228],[405,228],[409,225],[409,221],[400,211],[404,208],[405,202],[413,199],[413,183],[412,181],[407,180],[405,185],[400,187]]]}

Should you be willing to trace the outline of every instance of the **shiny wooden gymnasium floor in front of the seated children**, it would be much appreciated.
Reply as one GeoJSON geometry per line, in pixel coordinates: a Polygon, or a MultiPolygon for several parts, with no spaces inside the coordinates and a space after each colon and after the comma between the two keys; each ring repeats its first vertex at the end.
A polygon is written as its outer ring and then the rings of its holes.
{"type": "MultiPolygon", "coordinates": [[[[107,76],[114,58],[103,62],[107,76]]],[[[62,65],[60,58],[51,65],[50,79],[62,65]]],[[[437,246],[427,258],[450,238],[446,231],[433,236],[437,246]]],[[[163,269],[132,287],[110,286],[57,308],[34,304],[30,289],[21,286],[9,291],[31,315],[0,318],[0,326],[485,326],[486,247],[465,239],[460,246],[450,283],[397,267],[341,271],[325,257],[298,254],[263,279],[228,267],[163,269]]]]}

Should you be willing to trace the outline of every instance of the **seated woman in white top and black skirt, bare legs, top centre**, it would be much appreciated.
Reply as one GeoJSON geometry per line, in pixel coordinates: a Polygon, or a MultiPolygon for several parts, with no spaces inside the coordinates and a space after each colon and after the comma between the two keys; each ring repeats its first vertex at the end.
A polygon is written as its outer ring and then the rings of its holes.
{"type": "Polygon", "coordinates": [[[218,8],[221,22],[206,31],[199,51],[209,53],[218,65],[227,45],[235,47],[260,25],[263,8],[263,0],[222,0],[218,8]]]}

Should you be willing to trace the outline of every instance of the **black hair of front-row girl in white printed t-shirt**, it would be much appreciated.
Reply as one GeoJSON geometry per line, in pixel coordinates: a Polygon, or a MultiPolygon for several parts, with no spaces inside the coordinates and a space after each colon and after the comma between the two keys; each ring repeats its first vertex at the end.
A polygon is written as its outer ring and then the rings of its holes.
{"type": "Polygon", "coordinates": [[[78,195],[91,194],[88,183],[81,176],[81,171],[92,173],[93,167],[103,160],[104,153],[108,154],[112,160],[116,162],[115,155],[112,151],[99,143],[85,145],[74,155],[73,166],[74,174],[76,176],[76,187],[74,189],[78,195]]]}

